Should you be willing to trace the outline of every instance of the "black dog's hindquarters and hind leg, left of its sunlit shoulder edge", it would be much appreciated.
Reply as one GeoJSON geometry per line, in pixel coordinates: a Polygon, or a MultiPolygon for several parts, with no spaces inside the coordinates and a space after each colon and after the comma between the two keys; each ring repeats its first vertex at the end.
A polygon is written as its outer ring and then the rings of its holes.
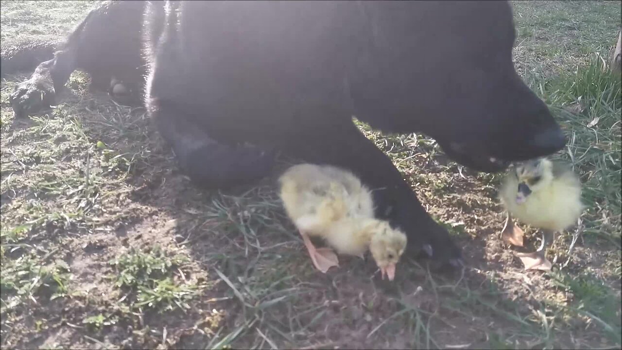
{"type": "MultiPolygon", "coordinates": [[[[9,98],[16,116],[31,115],[49,107],[75,70],[90,75],[90,89],[95,91],[108,90],[111,78],[117,77],[135,92],[137,100],[144,89],[147,68],[141,50],[144,5],[144,1],[111,1],[89,12],[64,44],[54,45],[60,49],[53,57],[39,64],[29,80],[17,85],[9,98]]],[[[38,47],[49,49],[50,45],[38,47]]],[[[9,52],[7,57],[3,52],[2,73],[21,69],[22,65],[5,66],[4,62],[32,57],[27,55],[29,52],[33,51],[21,50],[19,56],[9,52]]]]}

